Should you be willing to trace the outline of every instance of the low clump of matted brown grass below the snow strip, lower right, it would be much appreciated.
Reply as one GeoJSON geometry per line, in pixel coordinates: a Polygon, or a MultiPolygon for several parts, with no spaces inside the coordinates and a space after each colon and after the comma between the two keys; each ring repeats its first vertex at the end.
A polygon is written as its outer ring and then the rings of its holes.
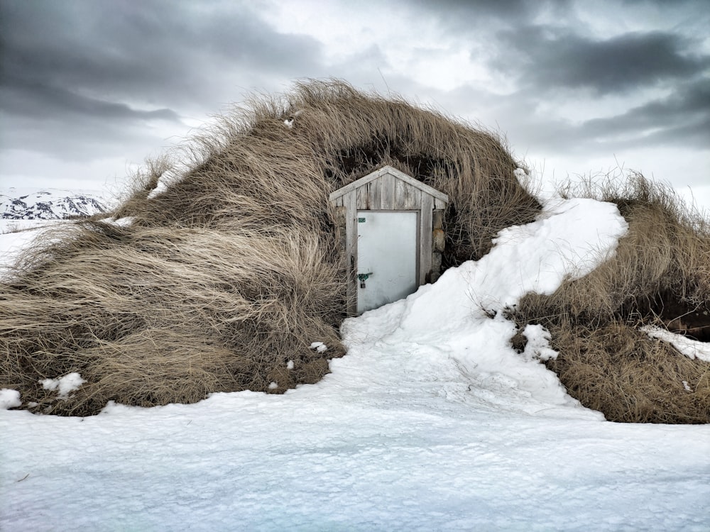
{"type": "Polygon", "coordinates": [[[572,397],[627,423],[710,422],[710,364],[691,360],[638,327],[557,326],[546,362],[572,397]],[[685,388],[687,383],[689,390],[685,388]]]}

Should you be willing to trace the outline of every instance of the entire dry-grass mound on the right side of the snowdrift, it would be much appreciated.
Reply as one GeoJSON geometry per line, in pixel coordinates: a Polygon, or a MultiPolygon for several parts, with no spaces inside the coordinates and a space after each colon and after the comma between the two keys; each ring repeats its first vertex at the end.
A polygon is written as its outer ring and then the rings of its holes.
{"type": "Polygon", "coordinates": [[[696,316],[710,326],[710,224],[670,189],[630,172],[568,185],[569,196],[613,201],[629,224],[616,254],[550,296],[528,294],[511,313],[552,333],[547,362],[572,397],[611,421],[710,422],[710,364],[639,331],[696,316]],[[705,313],[705,314],[703,314],[705,313]],[[684,389],[683,381],[692,392],[684,389]]]}

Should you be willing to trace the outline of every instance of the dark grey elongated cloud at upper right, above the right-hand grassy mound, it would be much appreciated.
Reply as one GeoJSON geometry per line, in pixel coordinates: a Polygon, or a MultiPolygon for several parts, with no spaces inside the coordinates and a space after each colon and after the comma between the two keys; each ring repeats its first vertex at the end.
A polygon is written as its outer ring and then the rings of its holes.
{"type": "Polygon", "coordinates": [[[506,60],[494,62],[496,68],[517,73],[528,86],[542,90],[623,93],[693,77],[710,66],[710,56],[693,53],[692,40],[660,31],[595,40],[550,26],[528,26],[501,37],[516,54],[506,52],[506,60]]]}

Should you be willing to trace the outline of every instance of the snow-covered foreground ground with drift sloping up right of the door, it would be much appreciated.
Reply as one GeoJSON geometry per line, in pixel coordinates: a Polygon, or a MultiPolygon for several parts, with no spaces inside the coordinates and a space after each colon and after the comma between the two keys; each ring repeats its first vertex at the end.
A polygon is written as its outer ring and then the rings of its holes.
{"type": "Polygon", "coordinates": [[[349,354],[285,395],[0,410],[0,529],[708,531],[710,426],[604,421],[537,361],[555,355],[545,331],[515,353],[499,312],[589,272],[625,230],[611,204],[549,204],[346,321],[349,354]]]}

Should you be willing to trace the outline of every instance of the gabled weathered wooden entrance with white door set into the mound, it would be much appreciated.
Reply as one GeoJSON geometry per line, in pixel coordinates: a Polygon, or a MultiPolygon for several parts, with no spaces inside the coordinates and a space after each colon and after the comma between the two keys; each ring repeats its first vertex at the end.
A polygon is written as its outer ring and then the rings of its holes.
{"type": "Polygon", "coordinates": [[[329,199],[349,265],[348,314],[403,299],[439,277],[446,194],[385,166],[329,199]]]}

